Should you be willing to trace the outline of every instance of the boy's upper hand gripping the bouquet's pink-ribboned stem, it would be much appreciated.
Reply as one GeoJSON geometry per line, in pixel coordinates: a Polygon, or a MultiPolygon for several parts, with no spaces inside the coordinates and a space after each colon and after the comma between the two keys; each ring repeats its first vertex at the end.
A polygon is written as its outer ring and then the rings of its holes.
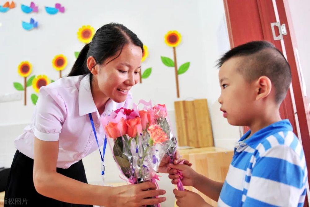
{"type": "MultiPolygon", "coordinates": [[[[182,183],[184,186],[194,186],[195,182],[197,182],[197,176],[199,175],[198,173],[196,173],[191,167],[189,167],[188,165],[184,165],[184,164],[169,164],[168,165],[168,173],[169,178],[172,180],[171,183],[172,184],[177,184],[178,183],[178,179],[179,179],[179,175],[178,175],[178,171],[181,171],[183,178],[181,179],[182,183]]],[[[199,181],[198,181],[199,182],[199,181]]]]}

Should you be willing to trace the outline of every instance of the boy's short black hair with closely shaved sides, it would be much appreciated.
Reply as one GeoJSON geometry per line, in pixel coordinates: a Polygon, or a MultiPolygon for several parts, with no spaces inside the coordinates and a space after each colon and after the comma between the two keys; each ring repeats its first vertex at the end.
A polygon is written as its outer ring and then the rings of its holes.
{"type": "Polygon", "coordinates": [[[290,65],[283,54],[268,41],[253,41],[232,48],[217,63],[221,67],[232,57],[244,57],[238,71],[246,81],[255,81],[267,76],[275,87],[275,101],[280,104],[286,96],[292,79],[290,65]]]}

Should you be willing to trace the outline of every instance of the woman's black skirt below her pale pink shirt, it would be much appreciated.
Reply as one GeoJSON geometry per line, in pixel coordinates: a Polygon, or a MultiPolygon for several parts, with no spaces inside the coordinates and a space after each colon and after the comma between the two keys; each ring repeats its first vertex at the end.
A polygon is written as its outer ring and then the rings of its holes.
{"type": "MultiPolygon", "coordinates": [[[[68,169],[57,168],[57,173],[87,183],[82,160],[74,163],[68,169]]],[[[37,205],[44,207],[92,207],[92,205],[70,204],[39,194],[33,184],[33,159],[17,150],[7,181],[4,195],[4,207],[30,207],[37,205]]]]}

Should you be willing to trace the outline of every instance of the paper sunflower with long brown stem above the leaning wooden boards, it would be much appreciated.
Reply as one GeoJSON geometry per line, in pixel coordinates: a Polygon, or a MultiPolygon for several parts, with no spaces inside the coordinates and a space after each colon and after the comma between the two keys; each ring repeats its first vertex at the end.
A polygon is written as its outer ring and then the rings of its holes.
{"type": "Polygon", "coordinates": [[[167,32],[167,34],[165,35],[165,43],[169,46],[173,48],[173,58],[174,61],[171,60],[168,57],[161,57],[162,58],[162,62],[168,66],[168,67],[174,67],[175,68],[175,83],[176,83],[176,93],[177,93],[177,97],[180,97],[180,93],[179,93],[179,75],[185,73],[190,65],[190,62],[186,62],[183,65],[181,65],[178,69],[177,66],[177,60],[176,60],[176,51],[175,51],[175,47],[177,47],[182,40],[182,36],[178,31],[169,31],[167,32]]]}

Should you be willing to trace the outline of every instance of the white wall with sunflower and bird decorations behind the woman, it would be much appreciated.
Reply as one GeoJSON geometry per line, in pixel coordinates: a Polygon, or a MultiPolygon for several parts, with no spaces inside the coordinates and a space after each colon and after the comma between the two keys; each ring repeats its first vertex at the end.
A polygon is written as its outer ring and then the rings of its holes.
{"type": "MultiPolygon", "coordinates": [[[[134,31],[148,46],[149,57],[143,62],[143,70],[153,68],[148,79],[142,85],[132,89],[134,101],[152,99],[153,103],[167,105],[173,128],[175,129],[174,101],[191,99],[208,99],[215,145],[233,149],[234,142],[239,139],[238,127],[228,125],[219,111],[217,98],[220,94],[218,70],[215,61],[229,48],[227,29],[224,21],[222,1],[73,1],[63,3],[64,14],[50,16],[44,6],[53,6],[56,1],[36,2],[38,14],[24,14],[20,4],[30,4],[31,0],[16,0],[17,8],[0,13],[0,55],[1,71],[0,94],[16,92],[13,82],[22,82],[17,74],[17,66],[21,61],[29,60],[33,64],[35,75],[46,74],[57,80],[58,72],[51,65],[56,54],[64,54],[68,58],[68,66],[63,74],[68,74],[75,61],[74,51],[83,44],[77,39],[78,28],[91,25],[95,29],[109,22],[119,22],[134,31]],[[47,3],[48,2],[48,3],[47,3]],[[38,30],[25,31],[21,20],[29,21],[33,17],[39,23],[38,30]],[[172,48],[164,43],[164,35],[168,30],[178,30],[182,34],[182,43],[176,48],[178,65],[191,62],[189,70],[179,76],[180,98],[176,98],[174,69],[162,64],[160,56],[172,58],[172,48]]],[[[33,93],[28,88],[28,94],[33,93]]],[[[27,106],[23,101],[0,103],[0,167],[9,167],[15,152],[13,141],[29,123],[34,106],[30,95],[27,106]]],[[[176,131],[175,131],[176,132],[176,131]]],[[[83,159],[88,181],[100,181],[100,157],[96,151],[83,159]]],[[[118,170],[107,152],[107,182],[118,182],[118,170]]],[[[172,206],[174,196],[173,185],[168,178],[162,177],[159,185],[168,192],[168,200],[163,207],[172,206]]]]}

